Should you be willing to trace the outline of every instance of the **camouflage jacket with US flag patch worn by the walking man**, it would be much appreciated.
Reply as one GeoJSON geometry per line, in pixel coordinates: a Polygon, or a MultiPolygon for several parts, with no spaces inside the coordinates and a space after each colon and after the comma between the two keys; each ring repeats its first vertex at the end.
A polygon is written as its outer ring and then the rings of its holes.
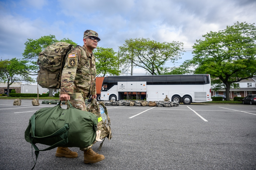
{"type": "Polygon", "coordinates": [[[80,48],[71,49],[66,56],[66,62],[62,71],[60,94],[74,94],[77,92],[74,81],[78,86],[83,97],[88,97],[89,94],[96,94],[96,67],[95,57],[93,53],[89,53],[85,46],[83,46],[83,54],[87,58],[85,64],[81,69],[78,69],[79,60],[82,57],[82,50],[80,48]]]}

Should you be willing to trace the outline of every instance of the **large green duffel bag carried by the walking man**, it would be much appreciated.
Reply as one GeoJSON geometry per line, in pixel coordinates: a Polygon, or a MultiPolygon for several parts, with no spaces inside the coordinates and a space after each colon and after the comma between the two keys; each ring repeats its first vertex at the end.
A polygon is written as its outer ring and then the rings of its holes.
{"type": "Polygon", "coordinates": [[[34,147],[36,160],[39,151],[58,146],[87,148],[96,141],[98,116],[74,108],[69,101],[69,109],[61,108],[60,103],[55,107],[39,109],[29,119],[25,140],[34,147]],[[39,150],[36,143],[49,147],[39,150]]]}

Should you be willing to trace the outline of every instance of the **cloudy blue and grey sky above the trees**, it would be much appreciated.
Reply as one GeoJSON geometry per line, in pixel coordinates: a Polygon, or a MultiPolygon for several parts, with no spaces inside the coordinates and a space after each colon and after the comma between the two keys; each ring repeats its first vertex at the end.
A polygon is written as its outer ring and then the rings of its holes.
{"type": "Polygon", "coordinates": [[[50,34],[83,45],[91,29],[99,34],[98,46],[115,51],[130,38],[183,42],[178,66],[192,58],[191,46],[207,32],[256,22],[255,9],[255,0],[0,0],[0,59],[22,59],[27,39],[50,34]]]}

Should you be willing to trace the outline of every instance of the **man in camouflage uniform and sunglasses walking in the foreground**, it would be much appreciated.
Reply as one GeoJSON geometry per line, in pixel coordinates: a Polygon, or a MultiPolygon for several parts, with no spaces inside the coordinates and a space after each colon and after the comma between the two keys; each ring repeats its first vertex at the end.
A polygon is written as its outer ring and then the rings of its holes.
{"type": "MultiPolygon", "coordinates": [[[[91,95],[96,98],[96,67],[93,49],[95,49],[100,41],[98,33],[92,30],[84,32],[84,46],[82,49],[73,48],[67,54],[66,62],[62,71],[60,85],[60,100],[70,101],[70,104],[86,111],[85,99],[91,95]],[[77,69],[81,58],[85,59],[85,63],[81,69],[77,69]]],[[[69,105],[67,105],[69,107],[69,105]]],[[[104,155],[95,153],[89,146],[88,148],[80,148],[84,151],[84,163],[96,163],[105,159],[104,155]]],[[[56,151],[58,157],[75,158],[77,152],[72,152],[66,147],[58,147],[56,151]]]]}

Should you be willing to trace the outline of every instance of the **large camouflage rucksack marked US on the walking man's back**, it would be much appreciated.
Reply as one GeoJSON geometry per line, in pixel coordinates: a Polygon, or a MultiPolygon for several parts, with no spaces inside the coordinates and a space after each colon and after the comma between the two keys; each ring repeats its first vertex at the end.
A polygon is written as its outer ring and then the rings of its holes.
{"type": "MultiPolygon", "coordinates": [[[[67,53],[72,48],[80,48],[82,56],[85,51],[81,46],[73,46],[66,42],[56,42],[48,46],[38,55],[37,65],[39,71],[37,83],[44,88],[60,88],[60,78],[67,53]]],[[[81,58],[77,68],[80,69],[85,64],[86,59],[81,58]]]]}

